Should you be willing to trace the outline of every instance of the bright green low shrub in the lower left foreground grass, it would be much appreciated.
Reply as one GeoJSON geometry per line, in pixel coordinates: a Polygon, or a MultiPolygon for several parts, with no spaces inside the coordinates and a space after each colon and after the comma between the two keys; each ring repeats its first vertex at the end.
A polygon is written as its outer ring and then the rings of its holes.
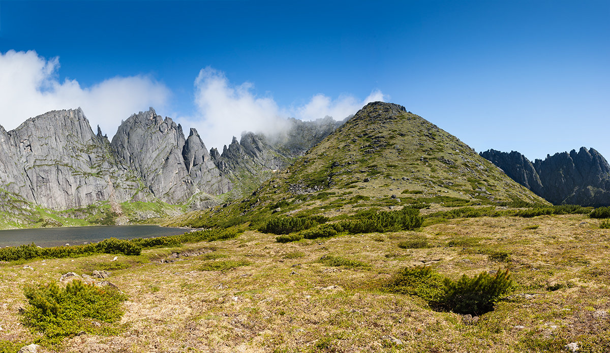
{"type": "Polygon", "coordinates": [[[127,299],[114,288],[102,290],[79,280],[65,288],[57,283],[29,286],[24,294],[29,306],[23,312],[23,324],[33,332],[43,333],[43,341],[50,344],[83,331],[93,335],[117,334],[118,327],[112,323],[123,316],[121,303],[127,299]],[[93,321],[102,325],[93,325],[93,321]]]}

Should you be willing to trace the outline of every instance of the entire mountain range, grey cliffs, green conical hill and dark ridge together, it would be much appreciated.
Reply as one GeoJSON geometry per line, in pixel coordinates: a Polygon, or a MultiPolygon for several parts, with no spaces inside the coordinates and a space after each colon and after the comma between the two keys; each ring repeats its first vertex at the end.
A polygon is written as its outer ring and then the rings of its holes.
{"type": "Polygon", "coordinates": [[[112,223],[134,205],[162,204],[165,211],[179,205],[173,210],[182,213],[243,197],[242,204],[279,203],[285,207],[273,210],[296,212],[311,199],[302,195],[320,193],[343,209],[544,199],[608,204],[610,167],[594,149],[534,163],[518,152],[479,155],[401,105],[384,102],[344,121],[285,123],[274,135],[234,137],[222,152],[207,149],[196,129],[185,137],[180,124],[152,108],[122,121],[112,141],[99,127],[93,132],[80,108],[48,112],[10,131],[0,126],[0,213],[15,227],[59,219],[58,212],[90,218],[101,205],[103,214],[95,217],[112,223]],[[344,202],[356,196],[361,202],[344,202]]]}

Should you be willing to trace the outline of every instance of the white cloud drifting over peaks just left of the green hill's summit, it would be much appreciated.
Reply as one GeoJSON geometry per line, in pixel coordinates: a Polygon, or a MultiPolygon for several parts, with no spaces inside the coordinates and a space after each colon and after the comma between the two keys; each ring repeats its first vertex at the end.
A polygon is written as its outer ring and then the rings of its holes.
{"type": "Polygon", "coordinates": [[[231,143],[232,136],[239,138],[244,131],[279,132],[287,117],[314,120],[328,115],[341,120],[368,102],[387,98],[379,90],[371,92],[364,101],[349,94],[337,99],[315,94],[307,104],[279,107],[270,96],[257,97],[253,88],[249,82],[232,85],[223,72],[204,68],[195,80],[198,115],[181,118],[182,126],[195,127],[208,148],[221,149],[224,144],[231,143]]]}

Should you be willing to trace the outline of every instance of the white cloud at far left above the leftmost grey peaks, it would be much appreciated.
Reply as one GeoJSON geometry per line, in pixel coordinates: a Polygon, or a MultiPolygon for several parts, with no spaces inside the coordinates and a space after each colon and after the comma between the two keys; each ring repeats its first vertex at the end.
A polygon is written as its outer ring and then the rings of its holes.
{"type": "Polygon", "coordinates": [[[27,118],[50,110],[81,107],[91,127],[109,138],[121,119],[149,106],[163,109],[170,91],[148,76],[113,77],[90,88],[76,80],[57,79],[59,58],[35,51],[0,53],[0,125],[10,130],[27,118]]]}

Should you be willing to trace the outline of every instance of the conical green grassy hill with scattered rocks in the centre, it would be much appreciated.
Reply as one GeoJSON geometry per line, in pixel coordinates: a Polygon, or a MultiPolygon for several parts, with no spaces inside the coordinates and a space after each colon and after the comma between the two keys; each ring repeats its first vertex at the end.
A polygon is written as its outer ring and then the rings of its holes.
{"type": "Polygon", "coordinates": [[[165,224],[218,226],[271,215],[515,201],[548,204],[448,132],[400,105],[374,102],[250,196],[165,224]]]}

